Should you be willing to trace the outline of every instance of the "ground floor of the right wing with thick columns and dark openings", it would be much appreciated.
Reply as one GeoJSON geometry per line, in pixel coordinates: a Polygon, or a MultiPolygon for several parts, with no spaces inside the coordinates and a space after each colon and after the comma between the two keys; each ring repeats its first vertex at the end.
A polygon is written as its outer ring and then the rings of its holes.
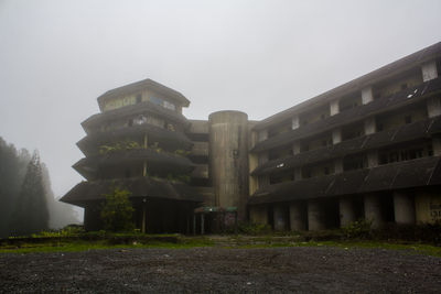
{"type": "Polygon", "coordinates": [[[323,230],[365,219],[385,224],[441,221],[441,186],[249,206],[249,220],[275,230],[323,230]]]}

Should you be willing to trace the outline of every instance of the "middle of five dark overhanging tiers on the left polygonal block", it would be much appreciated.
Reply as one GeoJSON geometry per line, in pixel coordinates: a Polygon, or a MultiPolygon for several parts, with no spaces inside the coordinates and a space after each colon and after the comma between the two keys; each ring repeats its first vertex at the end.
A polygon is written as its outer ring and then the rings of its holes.
{"type": "Polygon", "coordinates": [[[148,135],[149,142],[159,142],[160,145],[166,145],[168,150],[190,150],[193,145],[192,141],[184,133],[170,131],[148,123],[95,132],[86,135],[76,144],[85,155],[93,155],[98,152],[99,146],[103,144],[144,134],[148,135]]]}

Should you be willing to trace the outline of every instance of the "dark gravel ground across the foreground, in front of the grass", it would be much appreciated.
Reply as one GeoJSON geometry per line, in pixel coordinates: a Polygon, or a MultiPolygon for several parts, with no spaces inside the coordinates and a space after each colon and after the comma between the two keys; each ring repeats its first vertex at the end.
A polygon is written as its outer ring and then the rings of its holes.
{"type": "Polygon", "coordinates": [[[440,258],[383,249],[112,249],[0,254],[1,293],[440,291],[440,258]]]}

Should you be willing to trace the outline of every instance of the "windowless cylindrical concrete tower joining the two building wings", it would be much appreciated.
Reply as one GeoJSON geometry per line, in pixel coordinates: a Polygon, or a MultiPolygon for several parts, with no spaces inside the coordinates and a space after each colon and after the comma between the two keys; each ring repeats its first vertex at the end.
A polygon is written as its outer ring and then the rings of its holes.
{"type": "Polygon", "coordinates": [[[248,197],[248,116],[240,111],[209,115],[209,177],[216,206],[238,209],[246,219],[248,197]]]}

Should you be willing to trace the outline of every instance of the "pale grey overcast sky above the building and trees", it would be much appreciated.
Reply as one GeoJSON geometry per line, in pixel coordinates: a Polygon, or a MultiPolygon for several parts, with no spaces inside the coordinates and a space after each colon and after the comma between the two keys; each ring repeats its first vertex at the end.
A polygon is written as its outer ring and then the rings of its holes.
{"type": "Polygon", "coordinates": [[[187,118],[260,120],[440,42],[440,0],[0,0],[0,137],[40,151],[60,197],[108,89],[151,78],[187,118]]]}

